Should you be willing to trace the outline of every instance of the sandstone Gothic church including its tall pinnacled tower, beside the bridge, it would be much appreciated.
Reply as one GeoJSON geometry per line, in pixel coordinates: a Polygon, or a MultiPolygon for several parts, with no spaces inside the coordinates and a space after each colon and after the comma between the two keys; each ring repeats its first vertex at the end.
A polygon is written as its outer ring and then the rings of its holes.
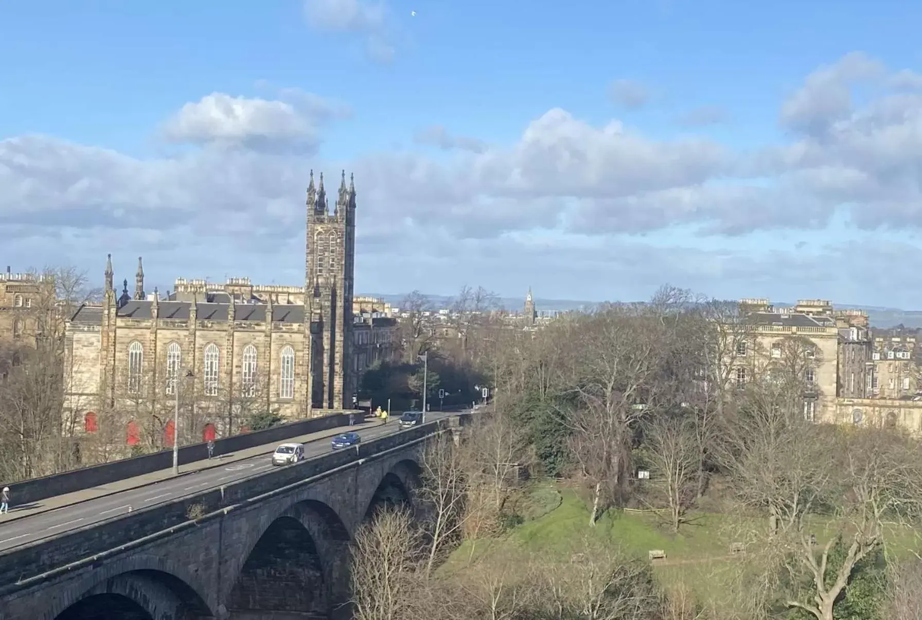
{"type": "Polygon", "coordinates": [[[354,408],[354,182],[344,171],[331,211],[323,174],[314,185],[312,171],[306,211],[302,289],[232,279],[214,293],[203,280],[177,280],[161,298],[145,292],[139,258],[134,294],[124,280],[119,296],[110,255],[103,303],[82,306],[66,328],[74,430],[95,432],[105,414],[124,424],[129,444],[143,435],[156,444],[164,433],[171,443],[177,406],[183,441],[201,440],[206,427],[206,435],[237,433],[259,412],[302,418],[354,408]]]}

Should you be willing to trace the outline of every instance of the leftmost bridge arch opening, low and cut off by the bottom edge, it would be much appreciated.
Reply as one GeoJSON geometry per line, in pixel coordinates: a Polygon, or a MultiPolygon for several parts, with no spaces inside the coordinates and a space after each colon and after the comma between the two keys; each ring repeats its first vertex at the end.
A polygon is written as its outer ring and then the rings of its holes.
{"type": "Polygon", "coordinates": [[[77,596],[54,620],[200,620],[207,602],[183,579],[155,569],[106,578],[77,596]]]}

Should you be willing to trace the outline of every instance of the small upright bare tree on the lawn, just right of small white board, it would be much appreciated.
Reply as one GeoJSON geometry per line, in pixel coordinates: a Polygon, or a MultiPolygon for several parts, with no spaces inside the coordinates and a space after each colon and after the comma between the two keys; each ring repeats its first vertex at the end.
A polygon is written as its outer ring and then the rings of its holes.
{"type": "Polygon", "coordinates": [[[697,495],[700,453],[694,423],[680,415],[656,416],[646,424],[644,439],[651,483],[665,499],[669,527],[678,532],[697,495]]]}

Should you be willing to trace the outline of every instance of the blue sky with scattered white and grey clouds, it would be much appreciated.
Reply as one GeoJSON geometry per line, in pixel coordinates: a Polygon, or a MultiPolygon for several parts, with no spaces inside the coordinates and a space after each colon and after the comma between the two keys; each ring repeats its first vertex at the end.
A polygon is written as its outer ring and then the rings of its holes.
{"type": "Polygon", "coordinates": [[[922,307],[922,5],[561,6],[6,3],[6,262],[296,283],[346,168],[359,292],[922,307]]]}

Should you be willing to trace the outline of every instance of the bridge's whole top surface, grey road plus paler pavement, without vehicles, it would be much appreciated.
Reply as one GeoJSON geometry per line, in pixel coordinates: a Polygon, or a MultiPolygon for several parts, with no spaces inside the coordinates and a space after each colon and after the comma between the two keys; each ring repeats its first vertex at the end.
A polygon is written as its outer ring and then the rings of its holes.
{"type": "MultiPolygon", "coordinates": [[[[426,422],[451,415],[456,415],[456,412],[431,411],[426,414],[426,422]]],[[[351,427],[340,426],[250,447],[223,455],[221,458],[187,463],[180,468],[178,476],[173,475],[171,469],[154,471],[143,476],[49,497],[29,506],[17,507],[14,504],[8,514],[0,515],[0,554],[23,544],[112,519],[132,510],[157,506],[185,495],[195,495],[210,488],[249,478],[261,471],[267,472],[273,467],[269,455],[281,443],[304,444],[305,457],[311,459],[333,451],[327,440],[334,435],[355,431],[359,433],[362,441],[368,441],[394,434],[399,430],[399,424],[394,417],[386,424],[369,418],[366,422],[351,427]]],[[[15,497],[11,499],[14,502],[16,500],[15,497]]]]}

